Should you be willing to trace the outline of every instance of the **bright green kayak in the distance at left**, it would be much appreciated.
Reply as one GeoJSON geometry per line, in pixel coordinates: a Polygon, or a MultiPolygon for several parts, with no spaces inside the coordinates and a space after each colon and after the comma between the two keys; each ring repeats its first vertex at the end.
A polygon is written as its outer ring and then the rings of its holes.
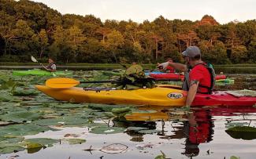
{"type": "Polygon", "coordinates": [[[70,70],[57,70],[54,72],[50,72],[47,70],[39,70],[39,69],[33,69],[33,70],[13,70],[14,76],[28,76],[28,75],[35,75],[35,76],[65,76],[65,75],[71,75],[72,71],[70,70]]]}

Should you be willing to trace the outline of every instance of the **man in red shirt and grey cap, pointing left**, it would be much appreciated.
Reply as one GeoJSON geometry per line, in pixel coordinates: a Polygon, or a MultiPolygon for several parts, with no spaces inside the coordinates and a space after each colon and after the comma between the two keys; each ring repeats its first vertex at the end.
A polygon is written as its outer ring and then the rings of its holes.
{"type": "Polygon", "coordinates": [[[169,65],[176,70],[185,72],[183,90],[187,91],[186,107],[190,107],[196,93],[210,94],[212,92],[215,73],[213,67],[201,60],[201,52],[197,46],[189,46],[182,52],[186,64],[165,62],[158,65],[164,69],[169,65]]]}

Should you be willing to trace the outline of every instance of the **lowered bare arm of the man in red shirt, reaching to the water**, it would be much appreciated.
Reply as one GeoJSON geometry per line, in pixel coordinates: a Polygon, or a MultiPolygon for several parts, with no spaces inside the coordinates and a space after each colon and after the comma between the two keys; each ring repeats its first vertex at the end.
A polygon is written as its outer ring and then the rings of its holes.
{"type": "Polygon", "coordinates": [[[189,91],[187,92],[187,99],[186,99],[186,107],[191,107],[193,100],[195,99],[195,94],[198,90],[199,81],[191,81],[189,86],[189,91]]]}

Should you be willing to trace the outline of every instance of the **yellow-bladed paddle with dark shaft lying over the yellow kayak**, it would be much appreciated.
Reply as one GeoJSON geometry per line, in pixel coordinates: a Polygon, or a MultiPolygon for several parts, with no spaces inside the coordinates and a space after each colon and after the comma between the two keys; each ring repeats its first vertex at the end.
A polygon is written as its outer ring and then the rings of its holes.
{"type": "Polygon", "coordinates": [[[80,83],[115,83],[117,81],[77,81],[72,78],[50,78],[46,80],[46,86],[53,89],[68,89],[80,83]]]}

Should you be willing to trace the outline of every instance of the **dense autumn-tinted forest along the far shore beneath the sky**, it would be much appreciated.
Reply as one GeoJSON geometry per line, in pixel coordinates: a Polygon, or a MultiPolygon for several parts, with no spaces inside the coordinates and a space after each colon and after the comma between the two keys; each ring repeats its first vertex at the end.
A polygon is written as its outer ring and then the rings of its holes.
{"type": "Polygon", "coordinates": [[[59,63],[180,62],[180,52],[198,45],[210,63],[255,63],[256,20],[220,24],[202,20],[135,23],[93,15],[61,15],[28,0],[0,0],[0,61],[28,62],[30,56],[59,63]]]}

